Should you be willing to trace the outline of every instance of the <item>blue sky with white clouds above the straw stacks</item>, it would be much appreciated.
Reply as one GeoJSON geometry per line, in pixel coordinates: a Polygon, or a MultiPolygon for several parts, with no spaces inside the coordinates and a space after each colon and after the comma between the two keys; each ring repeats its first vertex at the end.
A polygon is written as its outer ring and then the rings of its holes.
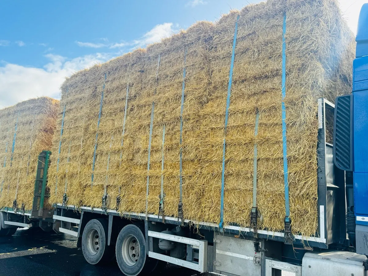
{"type": "MultiPolygon", "coordinates": [[[[259,0],[0,2],[0,108],[59,98],[73,72],[259,0]]],[[[355,31],[365,0],[339,0],[355,31]]]]}

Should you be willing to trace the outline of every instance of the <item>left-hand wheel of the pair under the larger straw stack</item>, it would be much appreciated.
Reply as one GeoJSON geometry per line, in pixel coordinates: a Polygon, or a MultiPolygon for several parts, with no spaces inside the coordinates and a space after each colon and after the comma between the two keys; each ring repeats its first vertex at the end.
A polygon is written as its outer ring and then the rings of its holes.
{"type": "Polygon", "coordinates": [[[86,261],[92,265],[109,259],[112,248],[107,245],[105,219],[92,219],[86,224],[82,234],[82,251],[86,261]]]}

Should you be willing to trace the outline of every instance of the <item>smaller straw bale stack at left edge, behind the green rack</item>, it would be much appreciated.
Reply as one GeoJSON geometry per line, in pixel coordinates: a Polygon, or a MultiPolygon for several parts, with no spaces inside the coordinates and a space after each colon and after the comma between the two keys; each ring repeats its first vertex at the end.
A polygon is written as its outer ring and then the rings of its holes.
{"type": "Polygon", "coordinates": [[[0,110],[0,207],[32,209],[38,155],[50,150],[59,101],[26,100],[0,110]],[[14,149],[14,152],[12,150],[14,149]]]}

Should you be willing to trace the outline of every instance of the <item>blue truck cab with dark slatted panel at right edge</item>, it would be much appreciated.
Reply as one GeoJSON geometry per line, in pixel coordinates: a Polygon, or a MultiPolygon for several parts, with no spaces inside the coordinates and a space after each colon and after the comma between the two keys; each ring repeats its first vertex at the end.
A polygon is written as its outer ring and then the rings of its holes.
{"type": "Polygon", "coordinates": [[[353,92],[335,102],[334,161],[346,176],[347,233],[357,253],[368,255],[368,3],[361,8],[356,42],[353,92]]]}

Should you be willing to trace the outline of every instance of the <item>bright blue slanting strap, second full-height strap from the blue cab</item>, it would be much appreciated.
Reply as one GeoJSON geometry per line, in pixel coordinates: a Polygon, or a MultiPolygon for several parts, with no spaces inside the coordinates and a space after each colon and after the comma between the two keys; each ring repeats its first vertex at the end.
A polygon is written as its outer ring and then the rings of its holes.
{"type": "Polygon", "coordinates": [[[229,120],[229,107],[230,107],[231,84],[233,82],[233,69],[234,69],[234,59],[235,59],[236,36],[238,34],[238,20],[239,20],[239,15],[237,16],[236,23],[235,23],[235,32],[234,32],[234,40],[233,40],[233,52],[231,53],[231,63],[230,63],[230,71],[229,71],[229,84],[227,86],[224,145],[223,145],[223,152],[222,152],[221,206],[220,206],[221,209],[220,209],[220,224],[219,224],[220,231],[223,231],[223,224],[224,224],[226,129],[227,129],[227,121],[229,120]]]}

